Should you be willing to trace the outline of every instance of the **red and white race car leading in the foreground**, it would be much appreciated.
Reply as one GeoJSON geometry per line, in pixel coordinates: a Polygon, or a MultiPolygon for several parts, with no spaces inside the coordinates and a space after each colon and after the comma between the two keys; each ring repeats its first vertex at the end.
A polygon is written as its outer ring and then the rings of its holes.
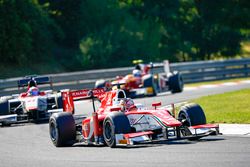
{"type": "Polygon", "coordinates": [[[159,140],[198,140],[219,134],[219,126],[206,124],[205,114],[197,104],[181,107],[176,117],[174,110],[159,108],[161,103],[153,103],[150,108],[135,104],[120,89],[68,91],[62,92],[62,97],[65,112],[54,113],[49,120],[50,138],[56,147],[75,143],[116,147],[159,140]],[[80,105],[79,100],[83,100],[85,110],[86,101],[90,101],[93,111],[77,122],[72,113],[76,103],[80,105]]]}

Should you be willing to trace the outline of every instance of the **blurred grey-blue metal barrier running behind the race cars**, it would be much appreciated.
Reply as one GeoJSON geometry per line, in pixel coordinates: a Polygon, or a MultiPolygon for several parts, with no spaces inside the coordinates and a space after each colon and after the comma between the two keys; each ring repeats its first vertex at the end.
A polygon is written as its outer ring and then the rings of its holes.
{"type": "MultiPolygon", "coordinates": [[[[164,64],[156,63],[154,65],[155,73],[164,73],[164,64]]],[[[53,82],[53,89],[82,89],[93,88],[98,79],[114,79],[116,76],[124,76],[131,73],[133,67],[100,69],[79,72],[69,72],[61,74],[48,74],[53,82]]],[[[250,76],[250,58],[231,59],[218,61],[196,61],[171,63],[171,71],[179,71],[184,83],[194,83],[212,80],[222,80],[238,77],[250,76]]],[[[0,95],[16,92],[17,81],[20,78],[9,78],[0,80],[0,95]]],[[[42,85],[41,85],[42,86],[42,85]]],[[[49,87],[49,86],[42,86],[49,87]]],[[[20,92],[20,91],[19,91],[20,92]]]]}

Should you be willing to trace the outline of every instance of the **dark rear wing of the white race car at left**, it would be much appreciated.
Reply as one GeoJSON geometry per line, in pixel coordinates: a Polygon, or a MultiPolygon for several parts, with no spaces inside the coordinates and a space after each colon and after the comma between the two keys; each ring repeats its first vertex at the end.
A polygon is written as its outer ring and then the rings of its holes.
{"type": "Polygon", "coordinates": [[[50,84],[50,87],[52,88],[51,78],[42,76],[27,76],[24,79],[18,80],[17,81],[18,88],[28,86],[30,80],[35,80],[37,85],[50,84]]]}

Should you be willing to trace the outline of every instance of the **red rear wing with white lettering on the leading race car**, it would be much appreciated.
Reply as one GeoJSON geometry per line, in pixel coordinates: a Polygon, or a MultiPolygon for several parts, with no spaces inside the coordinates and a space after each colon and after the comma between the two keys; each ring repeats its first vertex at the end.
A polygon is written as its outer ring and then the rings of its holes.
{"type": "Polygon", "coordinates": [[[72,114],[74,114],[74,101],[92,98],[98,98],[101,100],[104,96],[105,90],[103,88],[62,92],[63,111],[71,112],[72,114]]]}

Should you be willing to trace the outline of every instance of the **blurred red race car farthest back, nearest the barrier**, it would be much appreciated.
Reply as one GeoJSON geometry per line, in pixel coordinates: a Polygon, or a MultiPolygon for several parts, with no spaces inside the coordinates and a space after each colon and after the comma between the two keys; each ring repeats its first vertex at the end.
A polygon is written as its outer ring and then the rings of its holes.
{"type": "Polygon", "coordinates": [[[142,64],[141,61],[135,66],[132,74],[117,76],[113,81],[97,80],[95,88],[117,89],[121,85],[128,97],[155,96],[161,91],[171,91],[172,93],[182,92],[183,80],[179,72],[168,72],[167,75],[154,73],[154,65],[142,64]]]}

